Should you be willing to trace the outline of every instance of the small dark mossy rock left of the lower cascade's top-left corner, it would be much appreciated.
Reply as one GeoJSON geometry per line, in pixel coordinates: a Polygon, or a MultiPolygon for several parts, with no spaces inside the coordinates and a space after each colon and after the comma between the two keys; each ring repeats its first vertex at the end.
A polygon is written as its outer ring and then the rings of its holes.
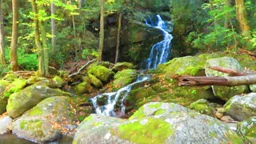
{"type": "Polygon", "coordinates": [[[90,86],[90,82],[81,82],[78,85],[73,87],[75,94],[86,94],[90,93],[93,90],[93,87],[90,86]]]}

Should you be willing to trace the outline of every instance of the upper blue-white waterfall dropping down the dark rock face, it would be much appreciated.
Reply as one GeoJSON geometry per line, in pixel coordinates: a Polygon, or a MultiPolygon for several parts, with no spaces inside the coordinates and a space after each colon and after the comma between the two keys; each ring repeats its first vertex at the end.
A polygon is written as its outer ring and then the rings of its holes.
{"type": "Polygon", "coordinates": [[[170,30],[166,26],[166,22],[162,20],[160,15],[157,15],[158,21],[154,23],[152,19],[146,20],[147,26],[152,26],[158,30],[162,31],[163,40],[158,42],[152,46],[150,50],[150,57],[147,58],[144,62],[142,62],[142,69],[155,69],[158,64],[164,63],[168,61],[170,54],[170,42],[173,36],[170,33],[170,30]]]}

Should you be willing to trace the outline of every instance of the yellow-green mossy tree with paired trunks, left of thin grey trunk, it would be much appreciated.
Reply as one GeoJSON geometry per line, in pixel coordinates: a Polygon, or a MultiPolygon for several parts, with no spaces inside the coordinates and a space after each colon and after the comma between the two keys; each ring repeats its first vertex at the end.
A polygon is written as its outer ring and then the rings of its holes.
{"type": "Polygon", "coordinates": [[[34,13],[34,40],[38,48],[38,72],[40,76],[47,76],[49,59],[46,45],[46,31],[44,26],[45,20],[42,18],[42,16],[40,18],[40,15],[38,14],[38,4],[36,3],[36,0],[31,0],[31,4],[34,13]],[[42,41],[40,39],[40,32],[42,41]]]}

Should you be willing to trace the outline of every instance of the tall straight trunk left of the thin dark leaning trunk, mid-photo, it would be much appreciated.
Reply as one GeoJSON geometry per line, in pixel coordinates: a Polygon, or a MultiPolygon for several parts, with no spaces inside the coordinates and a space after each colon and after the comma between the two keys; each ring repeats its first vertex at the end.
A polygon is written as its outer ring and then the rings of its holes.
{"type": "Polygon", "coordinates": [[[99,30],[99,46],[98,46],[98,61],[102,61],[102,51],[104,46],[104,0],[101,0],[101,16],[99,30]]]}

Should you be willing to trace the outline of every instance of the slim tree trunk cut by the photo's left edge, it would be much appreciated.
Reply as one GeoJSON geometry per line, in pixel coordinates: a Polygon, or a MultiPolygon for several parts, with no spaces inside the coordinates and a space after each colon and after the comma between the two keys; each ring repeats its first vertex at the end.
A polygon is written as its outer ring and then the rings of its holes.
{"type": "Polygon", "coordinates": [[[2,66],[6,66],[5,49],[3,43],[3,24],[2,24],[2,0],[0,0],[0,60],[2,66]]]}

